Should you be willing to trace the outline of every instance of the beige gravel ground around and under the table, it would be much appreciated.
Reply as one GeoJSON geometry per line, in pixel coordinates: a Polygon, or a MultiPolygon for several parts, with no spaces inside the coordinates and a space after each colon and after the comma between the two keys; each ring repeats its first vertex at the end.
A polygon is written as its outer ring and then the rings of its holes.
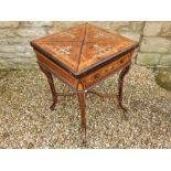
{"type": "MultiPolygon", "coordinates": [[[[95,89],[117,92],[118,74],[95,89]]],[[[70,92],[55,79],[56,89],[70,92]]],[[[125,78],[127,117],[109,99],[87,96],[86,148],[171,148],[171,92],[153,72],[133,65],[125,78]]],[[[54,111],[45,76],[39,71],[0,72],[0,148],[85,148],[81,143],[76,97],[60,97],[54,111]]]]}

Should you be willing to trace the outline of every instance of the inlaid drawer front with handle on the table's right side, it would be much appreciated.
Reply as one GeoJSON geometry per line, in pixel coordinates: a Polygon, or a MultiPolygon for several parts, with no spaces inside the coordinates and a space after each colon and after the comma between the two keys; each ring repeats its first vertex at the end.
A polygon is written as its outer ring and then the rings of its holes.
{"type": "Polygon", "coordinates": [[[99,81],[107,77],[111,73],[118,71],[120,67],[122,67],[124,65],[129,63],[130,60],[131,60],[131,54],[129,53],[129,54],[126,54],[126,55],[119,57],[118,60],[103,66],[101,68],[98,68],[94,73],[88,74],[84,78],[86,88],[92,86],[95,83],[98,83],[99,81]]]}

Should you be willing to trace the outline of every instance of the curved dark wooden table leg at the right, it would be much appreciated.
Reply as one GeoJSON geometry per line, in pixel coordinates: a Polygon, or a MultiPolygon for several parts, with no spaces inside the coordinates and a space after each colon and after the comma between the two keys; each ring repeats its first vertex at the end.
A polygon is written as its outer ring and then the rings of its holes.
{"type": "Polygon", "coordinates": [[[118,105],[124,110],[127,111],[127,109],[122,106],[122,84],[124,84],[124,77],[128,73],[130,65],[126,66],[119,74],[119,95],[118,95],[118,105]]]}

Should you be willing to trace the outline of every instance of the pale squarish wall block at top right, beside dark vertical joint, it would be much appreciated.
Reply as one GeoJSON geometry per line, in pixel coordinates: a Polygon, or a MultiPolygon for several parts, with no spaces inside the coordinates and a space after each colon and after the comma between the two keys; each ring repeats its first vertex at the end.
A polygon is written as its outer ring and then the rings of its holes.
{"type": "Polygon", "coordinates": [[[160,33],[162,26],[162,22],[146,22],[143,29],[143,35],[146,36],[156,36],[160,33]]]}

